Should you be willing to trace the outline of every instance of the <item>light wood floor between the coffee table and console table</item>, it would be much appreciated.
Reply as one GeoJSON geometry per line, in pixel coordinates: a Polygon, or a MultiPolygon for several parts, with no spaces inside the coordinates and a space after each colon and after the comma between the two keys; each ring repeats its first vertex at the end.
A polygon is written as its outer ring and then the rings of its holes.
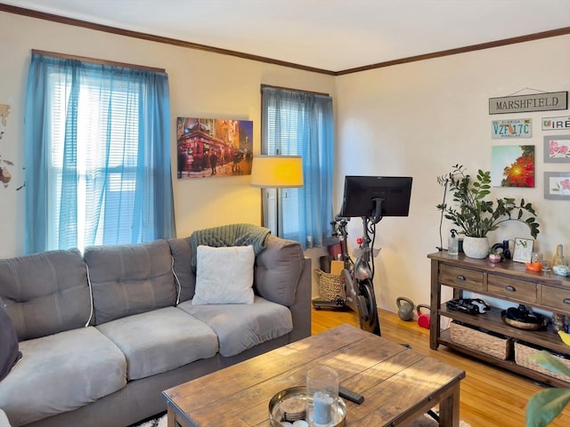
{"type": "MultiPolygon", "coordinates": [[[[380,311],[382,337],[394,342],[410,343],[413,350],[464,369],[461,382],[460,417],[472,427],[524,427],[527,400],[542,386],[525,377],[502,371],[491,365],[469,359],[444,346],[430,350],[429,331],[416,322],[404,322],[394,313],[380,311]]],[[[351,310],[314,310],[312,333],[350,324],[358,326],[351,310]]],[[[570,407],[566,407],[550,427],[570,426],[570,407]]]]}

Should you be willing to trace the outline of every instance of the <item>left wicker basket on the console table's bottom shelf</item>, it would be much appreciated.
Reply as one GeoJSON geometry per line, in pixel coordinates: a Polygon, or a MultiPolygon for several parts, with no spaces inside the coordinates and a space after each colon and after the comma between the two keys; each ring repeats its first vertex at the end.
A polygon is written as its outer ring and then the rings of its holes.
{"type": "Polygon", "coordinates": [[[512,338],[493,334],[475,326],[464,325],[455,320],[450,326],[450,333],[452,342],[481,351],[497,359],[509,359],[513,351],[512,338]]]}

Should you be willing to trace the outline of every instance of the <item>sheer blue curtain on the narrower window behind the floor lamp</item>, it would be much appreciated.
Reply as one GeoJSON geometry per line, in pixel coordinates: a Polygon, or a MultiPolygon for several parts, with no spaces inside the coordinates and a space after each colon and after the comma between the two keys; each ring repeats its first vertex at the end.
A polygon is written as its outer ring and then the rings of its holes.
{"type": "Polygon", "coordinates": [[[304,186],[281,190],[281,237],[303,249],[331,243],[334,119],[330,96],[262,87],[262,153],[303,157],[304,186]],[[294,227],[288,227],[288,223],[294,227]]]}

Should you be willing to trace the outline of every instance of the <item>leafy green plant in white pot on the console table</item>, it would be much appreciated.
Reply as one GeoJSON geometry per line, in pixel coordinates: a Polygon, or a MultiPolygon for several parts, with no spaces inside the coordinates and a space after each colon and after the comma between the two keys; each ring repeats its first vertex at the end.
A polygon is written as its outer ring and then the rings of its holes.
{"type": "Polygon", "coordinates": [[[437,181],[444,186],[445,192],[447,189],[452,191],[455,202],[455,205],[447,205],[444,195],[444,202],[437,205],[437,209],[462,230],[460,233],[465,235],[463,251],[469,257],[487,256],[487,234],[497,230],[502,222],[523,222],[533,238],[538,236],[539,223],[532,204],[525,203],[523,198],[518,203],[512,197],[497,198],[496,201],[486,198],[491,194],[491,172],[479,170],[473,179],[463,165],[454,165],[452,172],[438,177],[437,181]]]}

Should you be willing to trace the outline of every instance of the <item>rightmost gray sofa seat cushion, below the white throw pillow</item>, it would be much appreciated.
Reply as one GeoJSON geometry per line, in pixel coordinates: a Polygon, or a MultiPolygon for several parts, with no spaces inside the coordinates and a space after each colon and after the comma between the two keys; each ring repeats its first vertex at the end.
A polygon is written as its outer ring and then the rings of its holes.
{"type": "Polygon", "coordinates": [[[193,305],[187,301],[178,308],[214,329],[224,357],[240,354],[293,330],[289,309],[259,296],[253,304],[193,305]]]}

